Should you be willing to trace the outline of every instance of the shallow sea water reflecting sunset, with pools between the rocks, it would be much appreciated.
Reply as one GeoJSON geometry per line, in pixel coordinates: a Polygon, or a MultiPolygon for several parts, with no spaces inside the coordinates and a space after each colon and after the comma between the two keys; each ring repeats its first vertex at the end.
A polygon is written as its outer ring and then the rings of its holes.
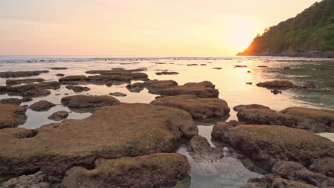
{"type": "MultiPolygon", "coordinates": [[[[94,57],[4,57],[0,56],[0,71],[38,71],[49,70],[50,73],[29,78],[44,78],[46,80],[58,80],[56,73],[65,75],[87,75],[85,71],[111,68],[148,68],[143,73],[148,74],[150,79],[176,80],[179,85],[188,82],[201,82],[209,80],[216,85],[220,91],[219,98],[226,100],[230,108],[236,105],[246,105],[258,103],[267,105],[273,110],[283,110],[290,106],[300,106],[307,108],[329,108],[334,109],[334,63],[330,59],[308,59],[303,58],[273,58],[273,57],[231,57],[231,58],[94,58],[94,57]],[[41,60],[43,60],[41,62],[41,60]],[[55,62],[49,62],[49,61],[55,62]],[[105,61],[106,60],[106,61],[105,61]],[[29,62],[27,62],[29,61],[29,62]],[[321,62],[320,62],[321,61],[321,62]],[[164,63],[164,64],[163,64],[164,63]],[[187,66],[187,64],[198,64],[198,66],[187,66]],[[199,66],[206,64],[206,66],[199,66]],[[236,65],[246,65],[248,68],[234,68],[236,65]],[[268,66],[259,68],[258,66],[268,66]],[[290,70],[283,67],[289,66],[290,70]],[[66,67],[68,70],[51,70],[51,67],[66,67]],[[213,68],[222,68],[216,70],[213,68]],[[156,75],[156,70],[176,71],[179,75],[156,75]],[[251,71],[251,73],[248,73],[251,71]],[[273,95],[270,90],[259,88],[256,83],[288,79],[293,83],[315,83],[323,91],[310,92],[300,90],[283,90],[280,95],[273,95]],[[247,85],[252,82],[253,85],[247,85]]],[[[20,78],[21,79],[21,78],[20,78]]],[[[0,85],[5,85],[6,78],[0,78],[0,85]]],[[[136,81],[133,81],[133,83],[136,81]]],[[[143,90],[141,93],[131,93],[125,88],[125,84],[112,85],[85,85],[91,90],[83,93],[74,93],[67,90],[65,85],[59,90],[51,90],[49,96],[34,98],[29,103],[21,105],[31,105],[39,100],[49,100],[57,104],[46,112],[34,112],[27,110],[28,120],[20,127],[34,129],[41,127],[53,120],[47,117],[59,110],[70,111],[69,108],[61,105],[61,98],[69,95],[108,95],[111,92],[126,93],[126,97],[117,97],[121,102],[126,103],[150,103],[157,95],[143,90]]],[[[0,95],[1,98],[9,98],[9,95],[0,95]]],[[[21,97],[19,97],[21,98],[21,97]]],[[[72,112],[69,119],[83,119],[91,115],[89,112],[72,112]]],[[[228,120],[237,120],[236,112],[231,110],[228,120]]],[[[210,123],[209,123],[210,125],[210,123]]],[[[211,126],[198,126],[200,135],[211,140],[211,126]]],[[[325,137],[333,140],[333,134],[322,133],[325,137]]],[[[191,187],[241,187],[250,177],[260,177],[260,174],[249,171],[243,166],[240,160],[233,157],[224,157],[217,162],[197,164],[193,162],[186,152],[185,147],[181,147],[178,152],[186,155],[193,170],[191,187]],[[205,170],[204,170],[205,169],[205,170]]]]}

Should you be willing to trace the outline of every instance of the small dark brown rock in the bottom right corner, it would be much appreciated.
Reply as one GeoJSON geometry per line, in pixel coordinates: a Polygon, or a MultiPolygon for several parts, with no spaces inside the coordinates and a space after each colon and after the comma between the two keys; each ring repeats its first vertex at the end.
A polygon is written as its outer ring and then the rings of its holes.
{"type": "Polygon", "coordinates": [[[318,172],[312,172],[296,162],[276,162],[272,172],[285,179],[312,184],[316,187],[334,187],[334,178],[326,177],[318,172]]]}

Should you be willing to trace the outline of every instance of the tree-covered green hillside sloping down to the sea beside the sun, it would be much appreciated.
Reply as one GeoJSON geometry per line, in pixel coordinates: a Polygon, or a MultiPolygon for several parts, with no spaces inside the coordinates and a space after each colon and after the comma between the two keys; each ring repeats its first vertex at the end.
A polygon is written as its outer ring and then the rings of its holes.
{"type": "Polygon", "coordinates": [[[238,56],[334,58],[334,0],[315,3],[294,18],[266,28],[238,56]]]}

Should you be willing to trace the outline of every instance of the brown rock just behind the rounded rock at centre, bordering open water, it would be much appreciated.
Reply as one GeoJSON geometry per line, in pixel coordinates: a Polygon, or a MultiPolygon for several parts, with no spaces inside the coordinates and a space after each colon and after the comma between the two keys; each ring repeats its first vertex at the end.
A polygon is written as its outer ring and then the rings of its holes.
{"type": "MultiPolygon", "coordinates": [[[[162,88],[155,91],[155,94],[172,96],[172,95],[196,95],[200,98],[218,98],[219,91],[215,89],[209,81],[201,83],[186,83],[184,85],[176,85],[169,88],[162,88]]],[[[150,90],[150,88],[148,88],[150,90]]],[[[151,91],[151,90],[150,90],[151,91]]]]}

